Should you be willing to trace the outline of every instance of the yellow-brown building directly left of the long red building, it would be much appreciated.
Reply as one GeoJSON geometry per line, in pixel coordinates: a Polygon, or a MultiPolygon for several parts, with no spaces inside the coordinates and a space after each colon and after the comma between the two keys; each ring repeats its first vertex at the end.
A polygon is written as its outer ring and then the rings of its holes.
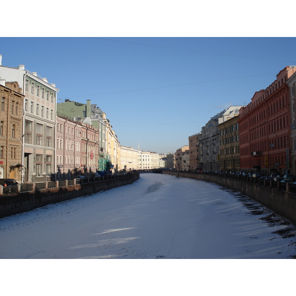
{"type": "Polygon", "coordinates": [[[220,133],[220,171],[239,172],[240,154],[239,154],[239,128],[238,115],[222,122],[218,125],[220,133]]]}

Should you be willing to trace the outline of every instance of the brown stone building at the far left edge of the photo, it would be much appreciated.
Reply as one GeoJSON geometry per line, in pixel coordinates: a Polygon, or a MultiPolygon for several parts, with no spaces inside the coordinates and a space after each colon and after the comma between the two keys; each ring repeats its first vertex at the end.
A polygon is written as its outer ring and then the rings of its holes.
{"type": "Polygon", "coordinates": [[[0,80],[0,178],[22,182],[24,95],[17,82],[0,80]]]}

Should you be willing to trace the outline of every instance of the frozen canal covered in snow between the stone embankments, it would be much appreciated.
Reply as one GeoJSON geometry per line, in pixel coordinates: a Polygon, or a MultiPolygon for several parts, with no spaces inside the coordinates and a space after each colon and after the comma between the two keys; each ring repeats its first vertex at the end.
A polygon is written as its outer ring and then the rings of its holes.
{"type": "Polygon", "coordinates": [[[296,227],[202,181],[132,185],[0,219],[0,259],[292,259],[296,227]]]}

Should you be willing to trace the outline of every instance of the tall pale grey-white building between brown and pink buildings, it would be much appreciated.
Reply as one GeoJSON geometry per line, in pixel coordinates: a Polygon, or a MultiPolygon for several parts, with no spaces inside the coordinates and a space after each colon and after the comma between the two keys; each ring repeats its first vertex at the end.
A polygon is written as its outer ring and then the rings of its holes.
{"type": "Polygon", "coordinates": [[[23,182],[44,182],[55,175],[55,124],[58,88],[24,65],[10,68],[1,65],[0,76],[17,81],[23,90],[23,182]]]}

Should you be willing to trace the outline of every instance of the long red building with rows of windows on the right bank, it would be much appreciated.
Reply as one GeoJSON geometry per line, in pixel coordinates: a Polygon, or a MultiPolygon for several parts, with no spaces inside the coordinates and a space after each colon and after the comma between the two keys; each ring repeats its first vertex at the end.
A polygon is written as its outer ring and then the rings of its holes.
{"type": "Polygon", "coordinates": [[[291,116],[286,81],[296,66],[285,67],[266,89],[256,92],[239,111],[240,166],[266,175],[290,172],[291,116]]]}

